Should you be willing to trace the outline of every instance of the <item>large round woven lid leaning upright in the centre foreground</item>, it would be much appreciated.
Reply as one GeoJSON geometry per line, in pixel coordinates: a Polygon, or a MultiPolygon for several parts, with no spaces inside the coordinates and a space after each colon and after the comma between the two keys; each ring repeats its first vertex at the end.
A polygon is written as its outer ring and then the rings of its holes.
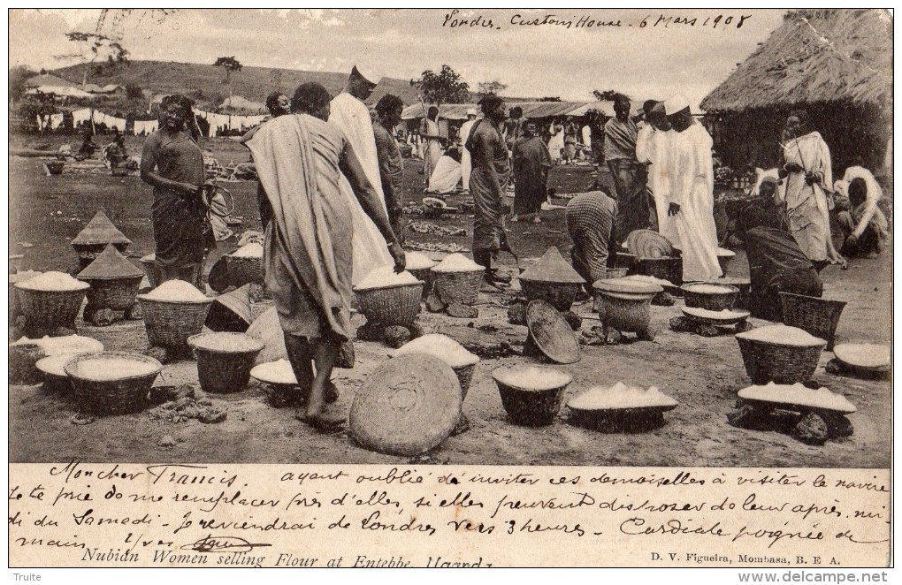
{"type": "Polygon", "coordinates": [[[386,361],[366,378],[354,395],[349,426],[367,449],[417,455],[450,436],[462,404],[451,366],[425,353],[410,353],[386,361]]]}

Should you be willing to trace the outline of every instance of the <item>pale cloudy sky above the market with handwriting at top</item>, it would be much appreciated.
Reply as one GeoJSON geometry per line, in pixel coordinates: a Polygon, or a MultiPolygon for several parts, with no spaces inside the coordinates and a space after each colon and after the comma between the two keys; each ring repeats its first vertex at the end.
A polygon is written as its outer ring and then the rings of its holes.
{"type": "MultiPolygon", "coordinates": [[[[184,9],[161,16],[135,10],[119,26],[107,25],[103,32],[121,36],[133,60],[212,65],[217,57],[235,56],[245,66],[340,72],[362,63],[382,75],[404,79],[447,64],[472,89],[480,82],[501,81],[508,86],[502,92],[507,96],[587,101],[593,99],[593,89],[615,89],[633,99],[681,94],[697,105],[767,41],[783,12],[184,9]],[[584,24],[620,26],[579,26],[581,19],[584,24]],[[683,23],[677,23],[679,19],[683,23]],[[460,25],[461,21],[466,23],[460,25]]],[[[60,58],[76,49],[65,33],[95,31],[99,13],[11,10],[10,67],[54,69],[78,62],[60,58]]]]}

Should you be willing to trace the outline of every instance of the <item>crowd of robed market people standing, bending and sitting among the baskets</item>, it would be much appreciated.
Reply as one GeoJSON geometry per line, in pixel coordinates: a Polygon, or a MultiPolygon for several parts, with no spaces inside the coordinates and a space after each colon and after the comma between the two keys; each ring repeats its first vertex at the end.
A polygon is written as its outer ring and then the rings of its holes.
{"type": "MultiPolygon", "coordinates": [[[[404,161],[395,133],[403,103],[385,95],[371,112],[364,100],[378,81],[354,67],[335,97],[318,83],[301,85],[291,98],[273,93],[266,102],[271,116],[239,139],[259,177],[266,287],[292,368],[311,390],[304,419],[318,428],[345,418],[330,413],[328,404],[337,396],[333,368],[354,361],[352,285],[376,268],[405,269],[404,161]]],[[[510,282],[492,267],[500,251],[511,250],[504,205],[509,183],[511,221],[539,223],[556,151],[573,160],[575,145],[586,138],[613,183],[609,192],[597,187],[566,206],[573,265],[586,282],[605,278],[612,251],[642,229],[658,231],[679,251],[684,281],[722,276],[712,139],[685,98],[649,101],[633,112],[630,99],[618,94],[615,116],[601,137],[591,131],[580,136],[573,122],[553,124],[542,136],[535,121],[523,118],[520,108],[508,110],[500,96],[483,96],[479,106],[482,116],[469,111],[459,138],[464,187],[474,203],[473,258],[484,267],[487,292],[510,282]]],[[[419,130],[427,177],[442,151],[437,116],[430,107],[419,130]]],[[[141,177],[154,187],[156,261],[165,279],[199,283],[204,254],[214,242],[205,221],[204,161],[190,100],[167,97],[160,120],[141,162],[141,177]]],[[[774,316],[779,291],[820,295],[818,272],[827,263],[844,262],[831,238],[830,187],[847,196],[844,205],[839,198],[842,253],[879,252],[887,233],[876,181],[854,167],[834,185],[829,150],[807,127],[804,113],[789,116],[780,140],[784,164],[778,177],[760,181],[759,197],[739,222],[750,258],[753,310],[766,318],[774,316]]]]}

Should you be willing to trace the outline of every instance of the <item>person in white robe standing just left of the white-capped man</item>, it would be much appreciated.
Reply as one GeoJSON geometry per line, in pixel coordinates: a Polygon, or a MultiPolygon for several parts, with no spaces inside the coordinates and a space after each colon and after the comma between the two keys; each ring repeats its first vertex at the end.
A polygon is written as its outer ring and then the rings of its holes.
{"type": "Polygon", "coordinates": [[[652,105],[646,117],[648,123],[640,128],[636,139],[636,160],[649,165],[648,187],[655,202],[658,233],[673,243],[676,241],[674,222],[673,218],[667,215],[670,202],[668,157],[673,131],[667,122],[663,102],[652,105]]]}

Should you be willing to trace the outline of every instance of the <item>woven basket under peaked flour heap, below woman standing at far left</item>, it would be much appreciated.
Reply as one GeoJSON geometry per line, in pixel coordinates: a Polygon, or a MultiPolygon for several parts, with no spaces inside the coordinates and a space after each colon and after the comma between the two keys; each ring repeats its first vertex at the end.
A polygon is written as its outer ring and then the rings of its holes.
{"type": "Polygon", "coordinates": [[[138,295],[147,341],[152,346],[188,352],[188,338],[203,330],[214,300],[161,301],[138,295]]]}

